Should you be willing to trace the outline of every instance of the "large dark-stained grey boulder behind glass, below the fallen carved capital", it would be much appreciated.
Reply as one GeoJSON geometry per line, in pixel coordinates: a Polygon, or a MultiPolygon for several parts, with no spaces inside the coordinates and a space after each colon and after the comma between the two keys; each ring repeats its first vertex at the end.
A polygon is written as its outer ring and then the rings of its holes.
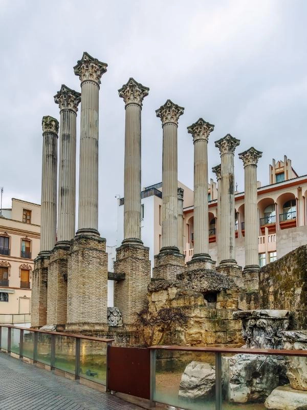
{"type": "Polygon", "coordinates": [[[274,389],[289,383],[286,371],[284,356],[223,353],[222,410],[266,410],[274,389]]]}

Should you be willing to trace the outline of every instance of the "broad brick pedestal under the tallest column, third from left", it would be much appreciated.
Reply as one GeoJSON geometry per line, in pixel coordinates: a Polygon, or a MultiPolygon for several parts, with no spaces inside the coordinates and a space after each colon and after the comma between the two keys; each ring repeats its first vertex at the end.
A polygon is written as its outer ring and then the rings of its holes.
{"type": "MultiPolygon", "coordinates": [[[[71,241],[67,277],[67,331],[107,329],[105,239],[78,235],[71,241]]],[[[83,332],[84,333],[84,332],[83,332]]]]}

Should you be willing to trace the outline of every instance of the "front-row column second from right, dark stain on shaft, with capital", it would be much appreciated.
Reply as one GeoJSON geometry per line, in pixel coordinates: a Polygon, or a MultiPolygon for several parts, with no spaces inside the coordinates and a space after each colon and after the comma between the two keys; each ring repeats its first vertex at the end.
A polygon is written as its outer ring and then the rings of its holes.
{"type": "Polygon", "coordinates": [[[227,134],[215,141],[221,153],[220,265],[236,265],[234,243],[234,151],[239,139],[227,134]]]}

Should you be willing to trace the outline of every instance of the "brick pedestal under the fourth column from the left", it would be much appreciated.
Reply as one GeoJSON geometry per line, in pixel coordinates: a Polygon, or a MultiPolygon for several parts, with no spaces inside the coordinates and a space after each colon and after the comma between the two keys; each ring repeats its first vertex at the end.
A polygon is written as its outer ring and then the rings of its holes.
{"type": "Polygon", "coordinates": [[[116,250],[115,273],[125,273],[125,279],[114,286],[114,306],[120,309],[123,324],[133,324],[136,312],[146,305],[151,266],[149,248],[143,244],[124,243],[116,250]]]}

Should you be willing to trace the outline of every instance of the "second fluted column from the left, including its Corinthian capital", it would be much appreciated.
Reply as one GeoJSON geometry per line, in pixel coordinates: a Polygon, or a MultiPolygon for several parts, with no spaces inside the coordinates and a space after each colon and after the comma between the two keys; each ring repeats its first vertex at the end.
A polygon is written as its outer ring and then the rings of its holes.
{"type": "Polygon", "coordinates": [[[60,108],[57,243],[64,244],[75,236],[76,121],[81,94],[62,85],[54,101],[60,108]]]}

